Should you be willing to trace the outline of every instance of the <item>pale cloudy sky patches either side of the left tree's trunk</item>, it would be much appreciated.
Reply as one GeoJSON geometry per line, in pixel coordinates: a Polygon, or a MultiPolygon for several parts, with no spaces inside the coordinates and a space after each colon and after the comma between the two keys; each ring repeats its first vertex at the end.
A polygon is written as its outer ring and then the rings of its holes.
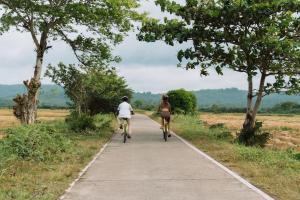
{"type": "MultiPolygon", "coordinates": [[[[60,61],[74,63],[76,59],[71,48],[64,42],[52,42],[53,46],[45,55],[43,72],[49,63],[60,61]]],[[[28,33],[14,30],[0,36],[0,84],[20,84],[33,75],[35,65],[35,47],[28,33]]],[[[43,83],[51,83],[42,77],[43,83]]]]}

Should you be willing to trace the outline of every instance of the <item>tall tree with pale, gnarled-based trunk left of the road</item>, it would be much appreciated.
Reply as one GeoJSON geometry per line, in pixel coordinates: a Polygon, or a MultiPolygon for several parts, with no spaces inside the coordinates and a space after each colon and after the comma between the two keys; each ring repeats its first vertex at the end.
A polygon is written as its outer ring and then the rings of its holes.
{"type": "Polygon", "coordinates": [[[122,41],[132,19],[139,19],[138,6],[138,0],[0,0],[0,34],[10,28],[28,32],[36,51],[33,77],[24,81],[28,93],[14,99],[16,117],[22,123],[36,121],[43,59],[51,41],[64,41],[85,65],[91,58],[117,61],[111,46],[122,41]]]}

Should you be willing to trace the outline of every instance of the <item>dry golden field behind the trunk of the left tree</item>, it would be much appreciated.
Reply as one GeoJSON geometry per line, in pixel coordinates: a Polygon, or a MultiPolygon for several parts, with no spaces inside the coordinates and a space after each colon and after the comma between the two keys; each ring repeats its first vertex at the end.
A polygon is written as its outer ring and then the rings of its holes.
{"type": "MultiPolygon", "coordinates": [[[[40,109],[38,111],[38,120],[53,121],[64,119],[68,114],[68,110],[40,109]]],[[[3,137],[1,129],[18,125],[20,125],[20,122],[14,117],[12,109],[0,109],[0,139],[3,137]]]]}

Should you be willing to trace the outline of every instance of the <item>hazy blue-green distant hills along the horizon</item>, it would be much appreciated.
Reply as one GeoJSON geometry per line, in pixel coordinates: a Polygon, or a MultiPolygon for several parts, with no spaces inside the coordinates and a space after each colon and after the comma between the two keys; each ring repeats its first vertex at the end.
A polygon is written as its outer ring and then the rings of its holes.
{"type": "MultiPolygon", "coordinates": [[[[0,85],[0,107],[13,105],[13,97],[26,91],[23,85],[0,85]]],[[[228,108],[241,108],[246,105],[247,91],[236,88],[229,89],[209,89],[193,91],[198,99],[198,105],[202,108],[218,105],[228,108]]],[[[137,92],[133,95],[132,102],[141,100],[147,104],[157,105],[160,101],[160,94],[150,92],[137,92]]],[[[300,96],[287,96],[284,94],[272,94],[266,96],[262,103],[262,108],[270,108],[283,102],[295,102],[300,104],[300,96]]],[[[40,106],[42,107],[66,107],[68,98],[64,94],[63,88],[56,85],[43,85],[40,93],[40,106]]]]}

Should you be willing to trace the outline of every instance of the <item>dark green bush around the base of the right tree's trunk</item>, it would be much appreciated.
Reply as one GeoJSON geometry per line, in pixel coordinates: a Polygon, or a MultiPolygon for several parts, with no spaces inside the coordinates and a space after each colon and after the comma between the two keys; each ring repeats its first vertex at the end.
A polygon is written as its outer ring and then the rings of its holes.
{"type": "Polygon", "coordinates": [[[245,144],[246,146],[259,146],[264,147],[271,134],[262,131],[262,122],[255,122],[255,126],[252,129],[242,129],[238,134],[236,141],[240,144],[245,144]]]}

